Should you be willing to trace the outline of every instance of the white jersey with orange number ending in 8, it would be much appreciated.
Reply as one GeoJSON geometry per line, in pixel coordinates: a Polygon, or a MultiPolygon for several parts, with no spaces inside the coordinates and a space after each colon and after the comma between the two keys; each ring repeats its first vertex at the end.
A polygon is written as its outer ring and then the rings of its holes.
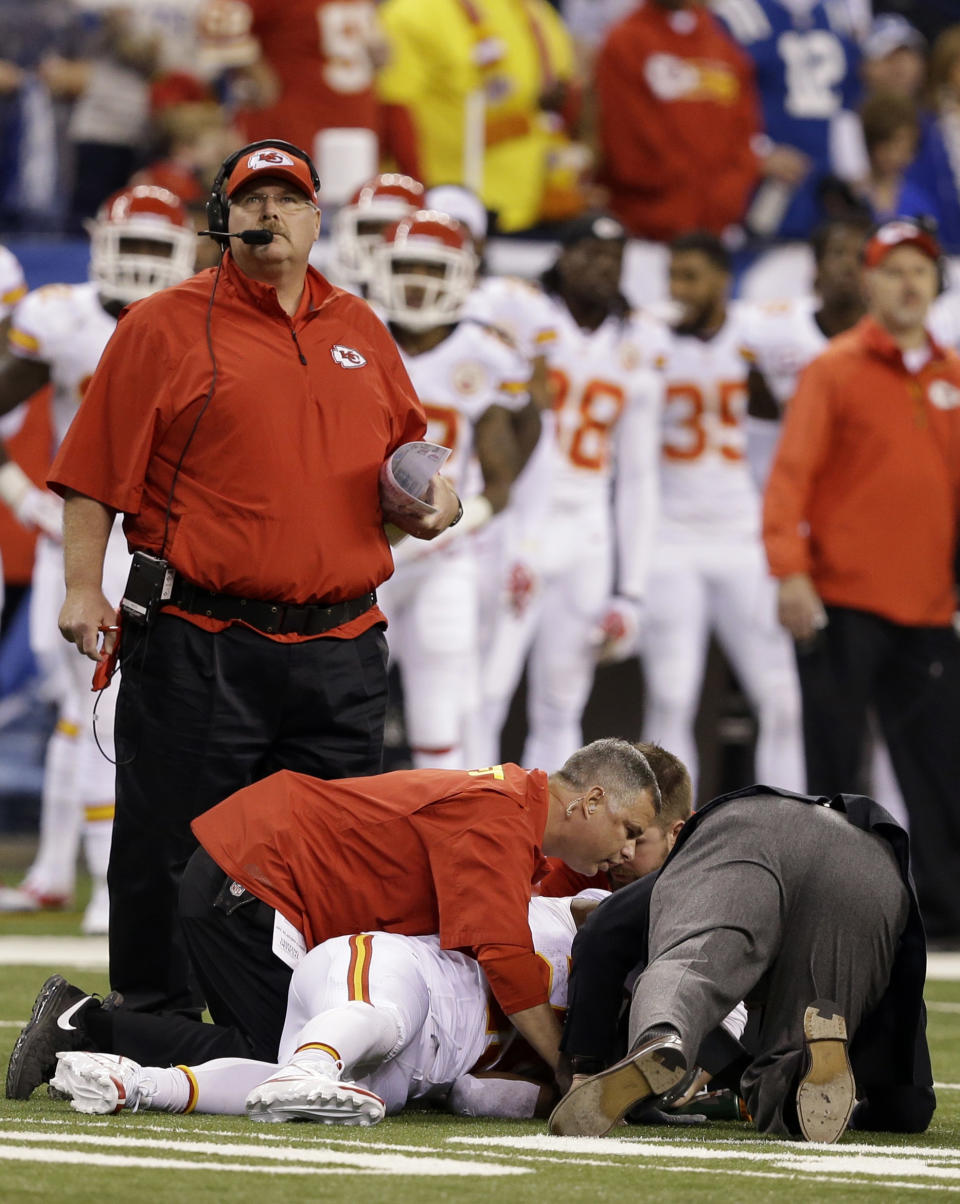
{"type": "Polygon", "coordinates": [[[564,510],[607,506],[614,438],[628,411],[655,420],[662,384],[636,320],[611,317],[583,330],[550,299],[556,337],[548,347],[556,423],[550,498],[564,510]]]}

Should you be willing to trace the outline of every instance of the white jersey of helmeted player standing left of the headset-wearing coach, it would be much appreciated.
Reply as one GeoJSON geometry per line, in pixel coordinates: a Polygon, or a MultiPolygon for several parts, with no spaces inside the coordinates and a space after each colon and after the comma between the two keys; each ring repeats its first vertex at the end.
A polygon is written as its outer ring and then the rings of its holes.
{"type": "Polygon", "coordinates": [[[48,284],[29,293],[13,312],[11,352],[49,365],[58,447],[116,327],[90,283],[48,284]]]}

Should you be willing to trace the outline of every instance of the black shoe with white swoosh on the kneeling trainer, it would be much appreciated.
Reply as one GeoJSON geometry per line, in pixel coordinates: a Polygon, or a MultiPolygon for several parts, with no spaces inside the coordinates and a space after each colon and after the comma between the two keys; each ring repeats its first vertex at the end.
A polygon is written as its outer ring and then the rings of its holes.
{"type": "Polygon", "coordinates": [[[10,1055],[7,1099],[29,1099],[57,1069],[59,1051],[83,1049],[88,1044],[81,1013],[92,1004],[99,1007],[100,999],[72,986],[63,975],[52,974],[47,979],[10,1055]]]}

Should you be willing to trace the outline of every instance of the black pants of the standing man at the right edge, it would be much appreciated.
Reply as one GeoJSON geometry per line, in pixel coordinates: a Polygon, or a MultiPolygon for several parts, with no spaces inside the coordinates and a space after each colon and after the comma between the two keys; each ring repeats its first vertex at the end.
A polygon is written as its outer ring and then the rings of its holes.
{"type": "Polygon", "coordinates": [[[797,650],[807,790],[856,789],[873,708],[909,811],[927,934],[960,937],[960,639],[952,627],[826,613],[828,626],[797,650]]]}

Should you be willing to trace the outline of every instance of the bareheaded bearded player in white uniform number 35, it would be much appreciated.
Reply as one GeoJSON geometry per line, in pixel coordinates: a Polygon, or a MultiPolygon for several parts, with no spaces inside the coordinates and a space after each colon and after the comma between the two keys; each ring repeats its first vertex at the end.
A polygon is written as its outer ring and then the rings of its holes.
{"type": "Polygon", "coordinates": [[[642,632],[644,739],[676,751],[696,781],[694,719],[715,631],[758,714],[758,780],[800,790],[800,691],[760,542],[746,459],[748,367],[729,288],[718,238],[691,234],[671,244],[679,319],[664,368],[660,518],[642,632]]]}

